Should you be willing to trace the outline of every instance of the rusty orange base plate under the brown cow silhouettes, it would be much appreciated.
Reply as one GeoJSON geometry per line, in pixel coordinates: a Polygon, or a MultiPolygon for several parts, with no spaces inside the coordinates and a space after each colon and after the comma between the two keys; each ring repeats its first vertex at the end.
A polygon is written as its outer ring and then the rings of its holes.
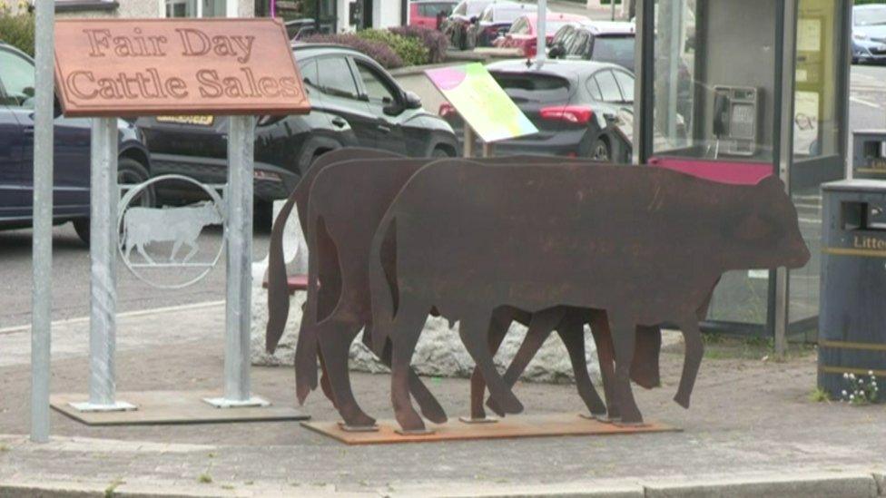
{"type": "Polygon", "coordinates": [[[576,414],[517,415],[500,419],[497,424],[430,424],[434,432],[428,435],[400,435],[399,425],[393,420],[379,420],[379,430],[372,433],[348,433],[336,422],[302,422],[301,425],[322,435],[328,435],[345,444],[431,443],[469,439],[503,439],[556,435],[619,435],[676,432],[668,425],[648,423],[622,427],[588,420],[576,414]]]}

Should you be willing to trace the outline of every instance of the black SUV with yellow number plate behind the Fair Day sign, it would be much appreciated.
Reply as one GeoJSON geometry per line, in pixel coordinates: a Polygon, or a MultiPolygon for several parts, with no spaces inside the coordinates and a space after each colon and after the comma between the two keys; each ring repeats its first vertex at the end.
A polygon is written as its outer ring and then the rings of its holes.
{"type": "MultiPolygon", "coordinates": [[[[261,210],[286,198],[323,153],[349,146],[408,156],[454,156],[452,128],[426,112],[379,63],[349,47],[294,44],[311,110],[262,116],[255,128],[255,199],[261,210]]],[[[227,176],[228,119],[222,116],[143,117],[137,122],[151,150],[153,174],[180,173],[205,183],[227,176]]],[[[175,186],[179,187],[179,186],[175,186]]],[[[192,188],[165,188],[189,200],[192,188]]]]}

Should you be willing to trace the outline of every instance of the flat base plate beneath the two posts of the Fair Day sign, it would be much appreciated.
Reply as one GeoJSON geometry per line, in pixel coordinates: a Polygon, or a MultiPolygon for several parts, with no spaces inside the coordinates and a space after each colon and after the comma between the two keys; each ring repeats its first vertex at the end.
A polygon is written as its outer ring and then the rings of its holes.
{"type": "Polygon", "coordinates": [[[53,409],[85,425],[166,425],[221,424],[231,422],[273,422],[307,420],[309,415],[295,408],[270,405],[264,407],[216,408],[203,401],[218,396],[212,391],[144,391],[117,393],[138,408],[133,411],[81,412],[72,403],[89,399],[86,394],[52,395],[53,409]]]}

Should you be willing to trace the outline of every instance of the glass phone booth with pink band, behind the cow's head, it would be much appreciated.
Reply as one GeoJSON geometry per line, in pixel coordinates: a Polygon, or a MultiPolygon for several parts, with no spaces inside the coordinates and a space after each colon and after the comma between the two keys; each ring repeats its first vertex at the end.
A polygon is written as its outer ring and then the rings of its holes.
{"type": "Polygon", "coordinates": [[[729,183],[780,176],[812,251],[790,273],[725,275],[709,330],[817,328],[819,186],[845,177],[851,22],[845,0],[640,2],[635,161],[729,183]]]}

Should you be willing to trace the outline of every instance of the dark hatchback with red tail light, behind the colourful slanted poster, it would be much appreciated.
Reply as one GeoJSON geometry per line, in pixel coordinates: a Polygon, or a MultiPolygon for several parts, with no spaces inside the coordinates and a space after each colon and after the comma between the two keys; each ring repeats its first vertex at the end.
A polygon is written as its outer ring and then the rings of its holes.
{"type": "MultiPolygon", "coordinates": [[[[633,113],[634,75],[611,63],[525,60],[487,66],[489,73],[533,122],[533,135],[496,142],[501,154],[545,154],[627,162],[630,142],[613,132],[619,116],[633,113]]],[[[449,104],[439,114],[459,137],[464,122],[449,104]]]]}

